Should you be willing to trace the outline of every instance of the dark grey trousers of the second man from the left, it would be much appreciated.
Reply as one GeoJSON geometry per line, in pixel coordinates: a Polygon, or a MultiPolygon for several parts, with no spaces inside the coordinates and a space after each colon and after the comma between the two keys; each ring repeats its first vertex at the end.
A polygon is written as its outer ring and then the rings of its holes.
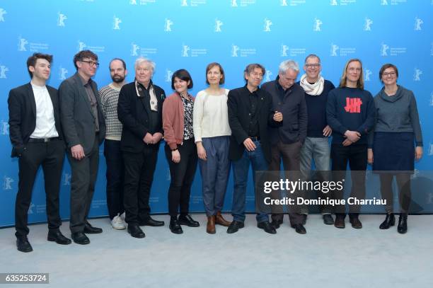
{"type": "Polygon", "coordinates": [[[69,229],[71,229],[71,233],[76,233],[84,230],[91,207],[93,192],[95,192],[99,165],[98,135],[95,137],[91,152],[83,159],[74,159],[71,156],[71,149],[69,149],[67,155],[72,171],[69,229]]]}

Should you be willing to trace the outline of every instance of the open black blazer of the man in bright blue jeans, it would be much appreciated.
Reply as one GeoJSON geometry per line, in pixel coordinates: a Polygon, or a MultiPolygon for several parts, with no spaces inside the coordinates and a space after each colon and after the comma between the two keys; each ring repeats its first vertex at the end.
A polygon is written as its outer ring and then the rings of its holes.
{"type": "MultiPolygon", "coordinates": [[[[241,159],[245,146],[243,141],[248,138],[248,126],[250,123],[250,110],[248,109],[248,88],[243,86],[229,91],[227,105],[229,107],[229,125],[231,129],[229,159],[236,161],[241,159]],[[245,91],[245,89],[247,91],[245,91]]],[[[272,96],[262,89],[256,91],[258,93],[258,124],[260,133],[260,144],[262,145],[263,154],[265,159],[270,162],[270,142],[268,124],[278,126],[279,123],[275,122],[272,117],[272,96]]]]}

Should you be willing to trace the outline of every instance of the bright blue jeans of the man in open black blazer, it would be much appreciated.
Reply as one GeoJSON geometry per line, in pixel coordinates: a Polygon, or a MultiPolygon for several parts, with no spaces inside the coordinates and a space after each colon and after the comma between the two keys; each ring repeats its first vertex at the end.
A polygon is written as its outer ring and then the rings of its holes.
{"type": "MultiPolygon", "coordinates": [[[[245,149],[241,159],[232,161],[234,190],[231,214],[233,215],[233,221],[245,221],[246,188],[250,163],[251,166],[253,166],[254,183],[255,171],[267,171],[267,161],[265,159],[265,155],[263,154],[262,146],[258,141],[253,142],[256,146],[254,151],[247,151],[245,149]]],[[[258,222],[269,221],[267,214],[257,214],[256,219],[258,222]]]]}

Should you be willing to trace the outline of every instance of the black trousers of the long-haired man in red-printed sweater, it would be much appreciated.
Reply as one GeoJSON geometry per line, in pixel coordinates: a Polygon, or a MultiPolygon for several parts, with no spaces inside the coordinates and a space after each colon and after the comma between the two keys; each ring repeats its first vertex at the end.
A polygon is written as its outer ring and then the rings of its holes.
{"type": "MultiPolygon", "coordinates": [[[[352,144],[342,146],[342,144],[331,145],[332,175],[334,181],[345,179],[347,163],[349,163],[352,176],[352,189],[350,197],[359,200],[365,198],[365,171],[367,165],[367,146],[364,144],[352,144]]],[[[342,200],[344,189],[333,191],[334,199],[342,200]]],[[[361,210],[360,205],[350,205],[349,213],[351,217],[357,217],[361,210]]],[[[335,205],[335,214],[346,214],[345,205],[335,205]]]]}

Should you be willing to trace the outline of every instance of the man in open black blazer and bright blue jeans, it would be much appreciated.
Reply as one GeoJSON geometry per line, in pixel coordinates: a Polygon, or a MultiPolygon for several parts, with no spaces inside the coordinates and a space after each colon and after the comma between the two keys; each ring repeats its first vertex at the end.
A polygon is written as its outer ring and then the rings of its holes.
{"type": "MultiPolygon", "coordinates": [[[[229,234],[244,226],[250,163],[253,166],[253,175],[256,171],[267,171],[270,162],[268,122],[277,125],[277,122],[282,121],[282,114],[272,111],[269,93],[259,88],[263,74],[265,67],[260,64],[249,64],[244,71],[246,86],[231,90],[227,100],[231,128],[229,159],[233,163],[234,182],[231,209],[233,221],[227,229],[229,234]]],[[[254,180],[260,181],[255,177],[254,180]]],[[[256,219],[258,228],[270,234],[277,233],[270,225],[267,214],[259,212],[256,219]]]]}

